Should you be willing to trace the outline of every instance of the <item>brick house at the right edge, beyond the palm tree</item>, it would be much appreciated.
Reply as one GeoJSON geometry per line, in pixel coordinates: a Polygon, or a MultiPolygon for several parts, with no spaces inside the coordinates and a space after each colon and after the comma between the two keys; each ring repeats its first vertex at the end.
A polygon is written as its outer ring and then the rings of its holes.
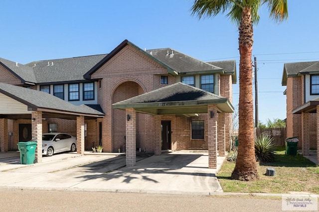
{"type": "Polygon", "coordinates": [[[298,136],[298,147],[309,155],[319,147],[319,61],[284,64],[282,85],[287,86],[287,137],[298,136]]]}

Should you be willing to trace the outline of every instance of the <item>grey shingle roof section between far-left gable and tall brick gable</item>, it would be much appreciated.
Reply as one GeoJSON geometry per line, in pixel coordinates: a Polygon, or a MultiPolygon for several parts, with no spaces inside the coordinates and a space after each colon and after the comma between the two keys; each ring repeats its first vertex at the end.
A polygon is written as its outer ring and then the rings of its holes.
{"type": "Polygon", "coordinates": [[[83,75],[106,55],[35,61],[27,66],[33,67],[37,83],[81,81],[83,75]]]}

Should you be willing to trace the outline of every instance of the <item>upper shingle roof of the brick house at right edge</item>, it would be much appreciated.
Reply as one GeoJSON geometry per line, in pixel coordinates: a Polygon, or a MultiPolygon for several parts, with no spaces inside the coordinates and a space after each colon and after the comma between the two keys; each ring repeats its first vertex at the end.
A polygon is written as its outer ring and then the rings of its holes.
{"type": "Polygon", "coordinates": [[[319,61],[285,63],[282,77],[282,86],[287,86],[287,78],[298,77],[301,74],[319,73],[319,61]]]}

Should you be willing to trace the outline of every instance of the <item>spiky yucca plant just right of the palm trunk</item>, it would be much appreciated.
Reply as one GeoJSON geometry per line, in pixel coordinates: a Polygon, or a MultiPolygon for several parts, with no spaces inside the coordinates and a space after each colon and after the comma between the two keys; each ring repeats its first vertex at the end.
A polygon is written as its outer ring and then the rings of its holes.
{"type": "Polygon", "coordinates": [[[256,161],[273,162],[275,160],[276,146],[273,143],[274,138],[269,135],[261,135],[255,138],[255,156],[256,161]]]}

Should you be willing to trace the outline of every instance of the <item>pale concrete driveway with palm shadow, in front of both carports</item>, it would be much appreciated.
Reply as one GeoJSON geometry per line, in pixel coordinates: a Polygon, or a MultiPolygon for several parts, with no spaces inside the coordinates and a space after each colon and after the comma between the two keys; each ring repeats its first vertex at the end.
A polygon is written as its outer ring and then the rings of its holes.
{"type": "MultiPolygon", "coordinates": [[[[140,155],[133,167],[126,167],[125,155],[120,154],[60,154],[53,160],[55,156],[48,161],[44,157],[43,163],[15,164],[18,167],[14,168],[0,159],[0,187],[202,195],[222,192],[215,177],[217,170],[208,169],[207,153],[140,155]]],[[[219,168],[223,160],[218,157],[219,168]]]]}

